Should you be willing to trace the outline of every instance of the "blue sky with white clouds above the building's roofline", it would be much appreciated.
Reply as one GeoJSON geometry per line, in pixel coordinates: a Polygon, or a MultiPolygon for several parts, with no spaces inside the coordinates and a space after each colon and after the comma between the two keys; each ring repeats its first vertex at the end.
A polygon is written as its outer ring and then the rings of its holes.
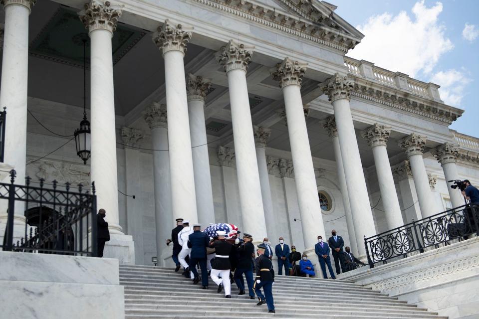
{"type": "Polygon", "coordinates": [[[329,2],[365,34],[348,56],[441,85],[445,103],[466,110],[451,128],[479,137],[479,0],[329,2]]]}

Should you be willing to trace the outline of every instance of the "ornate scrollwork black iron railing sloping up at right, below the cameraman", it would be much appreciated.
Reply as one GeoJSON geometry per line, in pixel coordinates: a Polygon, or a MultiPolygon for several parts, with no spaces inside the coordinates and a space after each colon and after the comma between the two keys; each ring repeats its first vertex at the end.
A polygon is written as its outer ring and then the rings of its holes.
{"type": "Polygon", "coordinates": [[[377,263],[423,253],[462,241],[476,233],[479,236],[479,206],[467,204],[413,221],[399,228],[364,238],[366,256],[371,268],[377,263]]]}

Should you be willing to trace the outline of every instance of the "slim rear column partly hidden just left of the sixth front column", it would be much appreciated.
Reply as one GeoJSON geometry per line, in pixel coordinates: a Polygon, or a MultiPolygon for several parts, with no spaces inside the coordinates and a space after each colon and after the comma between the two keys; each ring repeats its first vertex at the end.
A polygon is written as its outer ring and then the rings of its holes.
{"type": "Polygon", "coordinates": [[[346,216],[346,226],[349,234],[349,244],[352,252],[358,251],[358,244],[356,241],[356,231],[354,229],[353,215],[351,212],[351,204],[349,203],[348,186],[346,183],[346,176],[344,175],[343,159],[341,157],[341,148],[339,146],[338,129],[336,128],[336,121],[334,115],[326,118],[323,127],[328,130],[329,137],[333,142],[334,157],[336,159],[336,166],[338,169],[339,190],[343,199],[344,215],[346,216]]]}

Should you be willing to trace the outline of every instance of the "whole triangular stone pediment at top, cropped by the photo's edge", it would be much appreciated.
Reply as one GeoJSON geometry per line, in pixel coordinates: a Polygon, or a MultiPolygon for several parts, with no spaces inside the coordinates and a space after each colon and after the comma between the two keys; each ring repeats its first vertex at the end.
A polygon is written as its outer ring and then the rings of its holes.
{"type": "Polygon", "coordinates": [[[348,52],[364,35],[319,0],[197,0],[200,3],[348,52]]]}

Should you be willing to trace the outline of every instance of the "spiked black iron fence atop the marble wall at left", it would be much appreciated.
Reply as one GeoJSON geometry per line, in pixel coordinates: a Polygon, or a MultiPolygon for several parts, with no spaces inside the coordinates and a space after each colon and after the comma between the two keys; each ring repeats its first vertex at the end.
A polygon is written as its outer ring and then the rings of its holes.
{"type": "MultiPolygon", "coordinates": [[[[0,205],[7,207],[8,218],[0,246],[5,251],[46,254],[97,256],[97,217],[95,185],[91,193],[78,184],[72,191],[52,182],[46,188],[40,179],[38,186],[14,184],[15,171],[10,171],[10,183],[0,183],[0,205]],[[15,209],[24,211],[26,222],[14,225],[15,209]]],[[[18,223],[17,223],[18,224],[18,223]]]]}

